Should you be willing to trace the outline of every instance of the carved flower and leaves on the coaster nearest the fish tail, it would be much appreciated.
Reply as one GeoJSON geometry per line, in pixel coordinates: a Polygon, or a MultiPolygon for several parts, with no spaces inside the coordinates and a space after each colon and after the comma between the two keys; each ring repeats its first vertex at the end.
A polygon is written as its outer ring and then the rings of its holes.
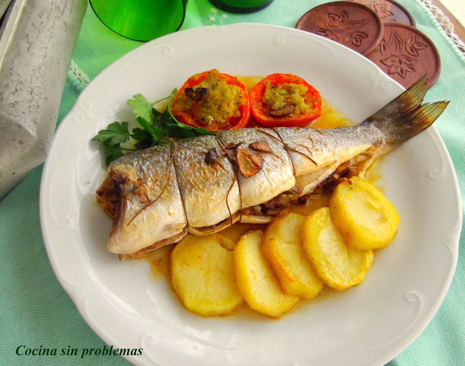
{"type": "Polygon", "coordinates": [[[389,75],[398,74],[405,78],[407,72],[415,72],[419,51],[426,47],[414,35],[403,39],[396,30],[392,30],[387,41],[383,39],[380,42],[377,51],[385,57],[379,61],[388,68],[389,75]]]}

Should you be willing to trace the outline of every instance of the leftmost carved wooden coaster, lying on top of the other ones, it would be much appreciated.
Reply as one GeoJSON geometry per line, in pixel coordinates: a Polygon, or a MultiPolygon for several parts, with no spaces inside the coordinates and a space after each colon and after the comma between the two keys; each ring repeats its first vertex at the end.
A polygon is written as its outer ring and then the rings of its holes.
{"type": "Polygon", "coordinates": [[[383,36],[379,15],[368,6],[352,1],[316,6],[295,27],[332,39],[365,56],[375,50],[383,36]]]}

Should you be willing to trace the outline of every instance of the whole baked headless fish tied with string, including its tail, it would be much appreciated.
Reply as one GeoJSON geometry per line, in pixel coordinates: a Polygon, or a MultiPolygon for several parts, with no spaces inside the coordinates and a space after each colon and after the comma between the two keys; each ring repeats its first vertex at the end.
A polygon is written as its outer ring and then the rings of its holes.
{"type": "Polygon", "coordinates": [[[322,184],[363,175],[431,126],[448,102],[422,104],[426,90],[422,77],[356,126],[222,130],[120,157],[97,191],[113,218],[108,250],[140,257],[187,232],[270,222],[322,184]]]}

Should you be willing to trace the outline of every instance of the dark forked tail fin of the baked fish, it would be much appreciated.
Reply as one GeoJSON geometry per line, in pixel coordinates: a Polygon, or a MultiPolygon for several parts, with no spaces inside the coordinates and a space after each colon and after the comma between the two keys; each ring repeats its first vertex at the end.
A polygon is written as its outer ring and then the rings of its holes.
{"type": "Polygon", "coordinates": [[[421,131],[430,127],[444,112],[449,102],[422,104],[428,79],[420,77],[410,88],[381,108],[363,123],[374,124],[384,137],[387,150],[393,150],[421,131]]]}

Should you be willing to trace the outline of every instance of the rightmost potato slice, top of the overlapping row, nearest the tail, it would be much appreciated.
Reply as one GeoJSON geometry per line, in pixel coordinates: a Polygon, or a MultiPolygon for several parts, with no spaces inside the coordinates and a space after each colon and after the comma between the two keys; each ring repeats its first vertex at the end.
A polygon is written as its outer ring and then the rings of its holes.
{"type": "Polygon", "coordinates": [[[357,249],[384,248],[399,226],[399,215],[387,198],[366,180],[340,183],[329,201],[334,225],[347,244],[357,249]]]}

